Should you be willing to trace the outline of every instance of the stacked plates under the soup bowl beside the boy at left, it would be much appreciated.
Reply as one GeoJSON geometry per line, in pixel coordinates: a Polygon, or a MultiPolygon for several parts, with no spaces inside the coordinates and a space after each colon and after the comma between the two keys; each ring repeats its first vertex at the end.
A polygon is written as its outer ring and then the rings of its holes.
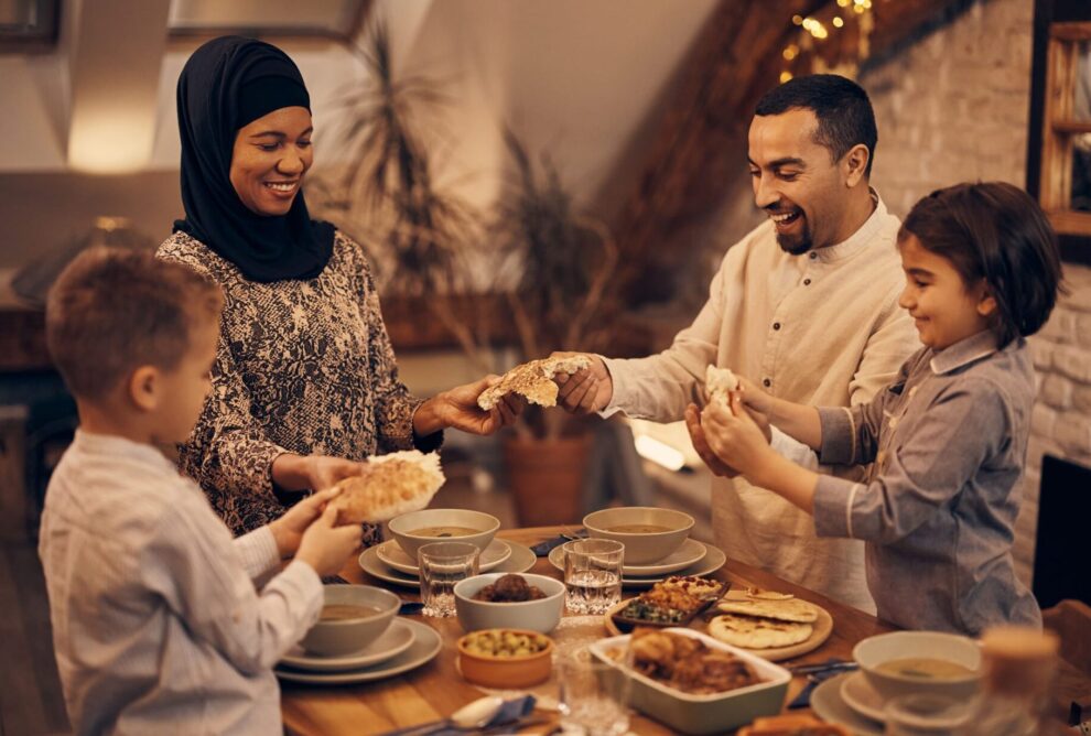
{"type": "Polygon", "coordinates": [[[425,624],[396,618],[367,647],[337,657],[320,657],[296,645],[273,670],[285,682],[344,685],[390,678],[415,669],[440,653],[443,640],[425,624]]]}

